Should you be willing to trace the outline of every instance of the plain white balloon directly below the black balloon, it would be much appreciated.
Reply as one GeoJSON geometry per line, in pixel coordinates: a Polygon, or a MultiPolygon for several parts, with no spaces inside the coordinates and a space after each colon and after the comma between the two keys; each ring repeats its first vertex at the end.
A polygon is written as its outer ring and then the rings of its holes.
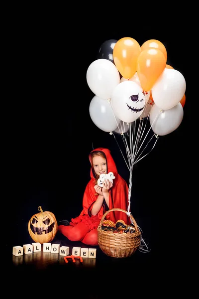
{"type": "Polygon", "coordinates": [[[87,83],[95,95],[102,99],[110,99],[112,91],[119,84],[119,72],[111,61],[97,59],[87,70],[87,83]]]}

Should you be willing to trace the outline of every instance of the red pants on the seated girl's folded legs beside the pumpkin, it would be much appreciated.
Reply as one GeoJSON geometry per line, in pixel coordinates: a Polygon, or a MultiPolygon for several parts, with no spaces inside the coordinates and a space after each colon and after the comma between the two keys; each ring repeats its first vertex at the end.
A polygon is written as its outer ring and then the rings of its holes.
{"type": "Polygon", "coordinates": [[[58,231],[71,241],[81,241],[84,244],[92,246],[98,245],[97,228],[90,230],[83,222],[79,222],[75,226],[59,225],[58,231]]]}

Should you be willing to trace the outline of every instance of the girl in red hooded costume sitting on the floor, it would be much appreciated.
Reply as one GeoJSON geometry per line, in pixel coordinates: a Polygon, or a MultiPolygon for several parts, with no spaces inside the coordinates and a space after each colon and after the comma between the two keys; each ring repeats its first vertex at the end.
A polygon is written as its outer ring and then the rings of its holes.
{"type": "MultiPolygon", "coordinates": [[[[115,162],[109,149],[94,149],[89,154],[91,163],[91,179],[86,186],[83,196],[83,210],[76,218],[72,218],[70,225],[59,225],[58,231],[71,241],[81,241],[87,245],[98,245],[98,231],[100,219],[103,214],[112,208],[120,208],[127,211],[128,185],[119,175],[115,162]],[[98,185],[100,174],[113,172],[113,183],[104,180],[103,186],[98,185]]],[[[130,218],[124,212],[111,211],[106,215],[116,223],[121,219],[130,224],[130,218]]]]}

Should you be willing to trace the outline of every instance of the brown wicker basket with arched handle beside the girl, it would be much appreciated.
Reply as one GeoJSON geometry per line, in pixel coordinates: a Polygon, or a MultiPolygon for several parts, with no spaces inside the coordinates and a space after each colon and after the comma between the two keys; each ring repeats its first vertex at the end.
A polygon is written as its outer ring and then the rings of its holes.
{"type": "Polygon", "coordinates": [[[98,244],[100,249],[108,256],[113,258],[126,258],[135,253],[135,251],[140,246],[140,236],[141,232],[135,222],[135,219],[130,214],[130,218],[133,221],[135,232],[132,234],[115,234],[110,231],[104,231],[101,229],[101,224],[105,216],[111,211],[122,211],[127,213],[127,211],[114,208],[110,209],[103,214],[100,224],[98,226],[98,244]]]}

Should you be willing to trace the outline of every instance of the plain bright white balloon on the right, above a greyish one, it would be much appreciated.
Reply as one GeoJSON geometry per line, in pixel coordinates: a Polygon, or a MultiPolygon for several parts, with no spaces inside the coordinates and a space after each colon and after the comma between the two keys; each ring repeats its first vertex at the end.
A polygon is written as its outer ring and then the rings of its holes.
{"type": "Polygon", "coordinates": [[[151,91],[154,103],[160,109],[171,109],[183,98],[186,81],[179,71],[165,68],[151,91]]]}

